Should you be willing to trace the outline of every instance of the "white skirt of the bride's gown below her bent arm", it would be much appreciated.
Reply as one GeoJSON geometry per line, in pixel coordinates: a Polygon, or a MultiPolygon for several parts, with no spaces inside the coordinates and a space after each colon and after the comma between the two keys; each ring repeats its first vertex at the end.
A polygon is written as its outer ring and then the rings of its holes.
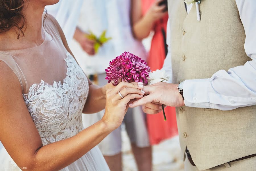
{"type": "MultiPolygon", "coordinates": [[[[11,156],[3,147],[0,150],[0,171],[21,171],[26,170],[24,166],[18,167],[11,156]],[[20,169],[21,168],[21,169],[20,169]]],[[[61,171],[110,171],[102,153],[98,146],[92,148],[89,152],[84,154],[81,158],[70,164],[69,166],[61,169],[61,171]]]]}

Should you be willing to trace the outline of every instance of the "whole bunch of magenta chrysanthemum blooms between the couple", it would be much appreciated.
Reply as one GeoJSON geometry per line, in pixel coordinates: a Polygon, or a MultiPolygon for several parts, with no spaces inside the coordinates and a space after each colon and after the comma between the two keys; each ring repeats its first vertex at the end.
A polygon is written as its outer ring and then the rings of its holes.
{"type": "Polygon", "coordinates": [[[113,81],[112,84],[116,86],[120,80],[147,84],[146,78],[151,70],[144,60],[132,53],[124,52],[110,62],[106,72],[106,80],[109,80],[109,83],[113,81]]]}

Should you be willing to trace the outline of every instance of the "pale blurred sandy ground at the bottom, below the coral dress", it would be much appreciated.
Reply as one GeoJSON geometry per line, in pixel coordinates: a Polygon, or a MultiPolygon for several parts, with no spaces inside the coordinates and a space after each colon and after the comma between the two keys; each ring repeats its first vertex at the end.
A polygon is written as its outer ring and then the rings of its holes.
{"type": "MultiPolygon", "coordinates": [[[[129,138],[122,130],[123,171],[137,171],[129,138]]],[[[173,137],[153,146],[153,171],[183,171],[179,138],[173,137]]]]}

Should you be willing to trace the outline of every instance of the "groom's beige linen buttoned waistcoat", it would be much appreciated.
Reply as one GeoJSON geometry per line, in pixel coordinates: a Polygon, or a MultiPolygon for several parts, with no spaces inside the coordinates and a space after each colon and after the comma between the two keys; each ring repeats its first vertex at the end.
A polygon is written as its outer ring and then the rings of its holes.
{"type": "MultiPolygon", "coordinates": [[[[195,5],[187,14],[183,0],[168,0],[168,11],[173,83],[210,78],[251,60],[234,0],[202,0],[200,22],[195,5]]],[[[230,111],[183,106],[176,112],[182,152],[188,148],[199,170],[256,153],[256,106],[230,111]]]]}

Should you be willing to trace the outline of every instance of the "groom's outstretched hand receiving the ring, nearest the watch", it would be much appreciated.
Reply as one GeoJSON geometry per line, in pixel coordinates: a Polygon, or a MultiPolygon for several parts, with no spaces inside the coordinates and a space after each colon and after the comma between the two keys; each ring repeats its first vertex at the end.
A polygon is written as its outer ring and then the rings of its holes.
{"type": "MultiPolygon", "coordinates": [[[[177,89],[178,84],[159,82],[150,86],[144,86],[143,91],[147,96],[129,104],[129,107],[146,105],[156,102],[167,106],[179,107],[184,105],[184,100],[177,89]]],[[[150,108],[149,106],[147,106],[150,108]]]]}

